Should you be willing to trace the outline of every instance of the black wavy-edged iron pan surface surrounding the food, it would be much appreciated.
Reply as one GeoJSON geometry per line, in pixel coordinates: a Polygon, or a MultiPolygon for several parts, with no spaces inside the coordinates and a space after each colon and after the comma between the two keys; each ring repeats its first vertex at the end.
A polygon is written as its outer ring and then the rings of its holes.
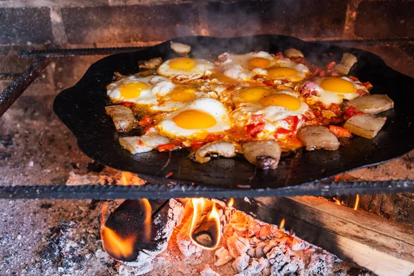
{"type": "Polygon", "coordinates": [[[388,119],[374,139],[353,137],[348,144],[335,151],[299,150],[284,156],[277,170],[255,169],[244,157],[221,158],[197,164],[187,158],[186,150],[174,151],[171,155],[156,151],[132,155],[119,146],[119,134],[112,119],[105,113],[105,106],[110,103],[106,96],[106,85],[112,81],[116,71],[122,75],[138,72],[138,61],[176,57],[170,50],[170,41],[166,41],[138,52],[105,57],[92,64],[75,86],[57,95],[55,113],[77,137],[79,148],[90,158],[118,170],[135,172],[152,184],[170,185],[176,182],[271,190],[319,181],[356,168],[380,164],[414,148],[414,124],[411,124],[414,117],[414,79],[389,68],[380,57],[370,52],[305,42],[281,35],[184,37],[172,41],[189,44],[193,47],[190,53],[193,57],[206,59],[225,51],[244,53],[264,50],[275,53],[293,47],[302,50],[310,60],[326,63],[339,61],[342,53],[352,52],[358,63],[350,74],[363,82],[370,81],[374,86],[373,94],[388,94],[395,101],[395,108],[382,114],[388,119]],[[334,55],[324,59],[324,52],[333,52],[334,55]],[[169,172],[172,172],[172,177],[166,179],[165,175],[169,172]]]}

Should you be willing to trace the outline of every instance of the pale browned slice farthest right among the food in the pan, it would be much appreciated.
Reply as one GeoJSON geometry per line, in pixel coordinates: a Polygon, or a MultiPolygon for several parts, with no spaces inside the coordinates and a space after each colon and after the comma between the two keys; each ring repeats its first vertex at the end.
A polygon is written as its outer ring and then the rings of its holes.
{"type": "Polygon", "coordinates": [[[394,107],[394,102],[387,95],[376,94],[357,97],[351,101],[344,100],[342,103],[342,110],[354,106],[357,111],[362,111],[366,114],[377,114],[394,107]]]}

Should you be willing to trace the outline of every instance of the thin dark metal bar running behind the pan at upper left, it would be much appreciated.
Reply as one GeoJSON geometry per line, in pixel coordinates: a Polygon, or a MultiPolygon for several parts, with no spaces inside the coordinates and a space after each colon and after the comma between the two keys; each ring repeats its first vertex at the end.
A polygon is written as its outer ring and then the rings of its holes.
{"type": "Polygon", "coordinates": [[[75,57],[85,55],[110,55],[119,52],[134,52],[147,47],[112,47],[112,48],[80,48],[80,49],[50,49],[50,50],[22,50],[19,57],[75,57]]]}

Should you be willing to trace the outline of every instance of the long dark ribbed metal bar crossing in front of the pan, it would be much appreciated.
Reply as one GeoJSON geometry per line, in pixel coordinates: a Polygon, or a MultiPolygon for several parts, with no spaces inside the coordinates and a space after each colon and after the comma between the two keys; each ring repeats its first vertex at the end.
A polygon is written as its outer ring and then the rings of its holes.
{"type": "Polygon", "coordinates": [[[354,195],[414,193],[414,180],[316,182],[278,189],[226,189],[197,185],[143,186],[0,186],[0,199],[168,199],[210,197],[290,197],[295,195],[354,195]]]}

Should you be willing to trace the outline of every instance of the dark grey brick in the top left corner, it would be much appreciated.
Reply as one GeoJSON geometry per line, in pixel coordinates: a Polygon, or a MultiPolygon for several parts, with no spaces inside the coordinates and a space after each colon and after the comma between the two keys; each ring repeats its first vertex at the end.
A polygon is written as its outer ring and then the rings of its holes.
{"type": "Polygon", "coordinates": [[[0,44],[53,41],[49,8],[1,8],[0,44]]]}

